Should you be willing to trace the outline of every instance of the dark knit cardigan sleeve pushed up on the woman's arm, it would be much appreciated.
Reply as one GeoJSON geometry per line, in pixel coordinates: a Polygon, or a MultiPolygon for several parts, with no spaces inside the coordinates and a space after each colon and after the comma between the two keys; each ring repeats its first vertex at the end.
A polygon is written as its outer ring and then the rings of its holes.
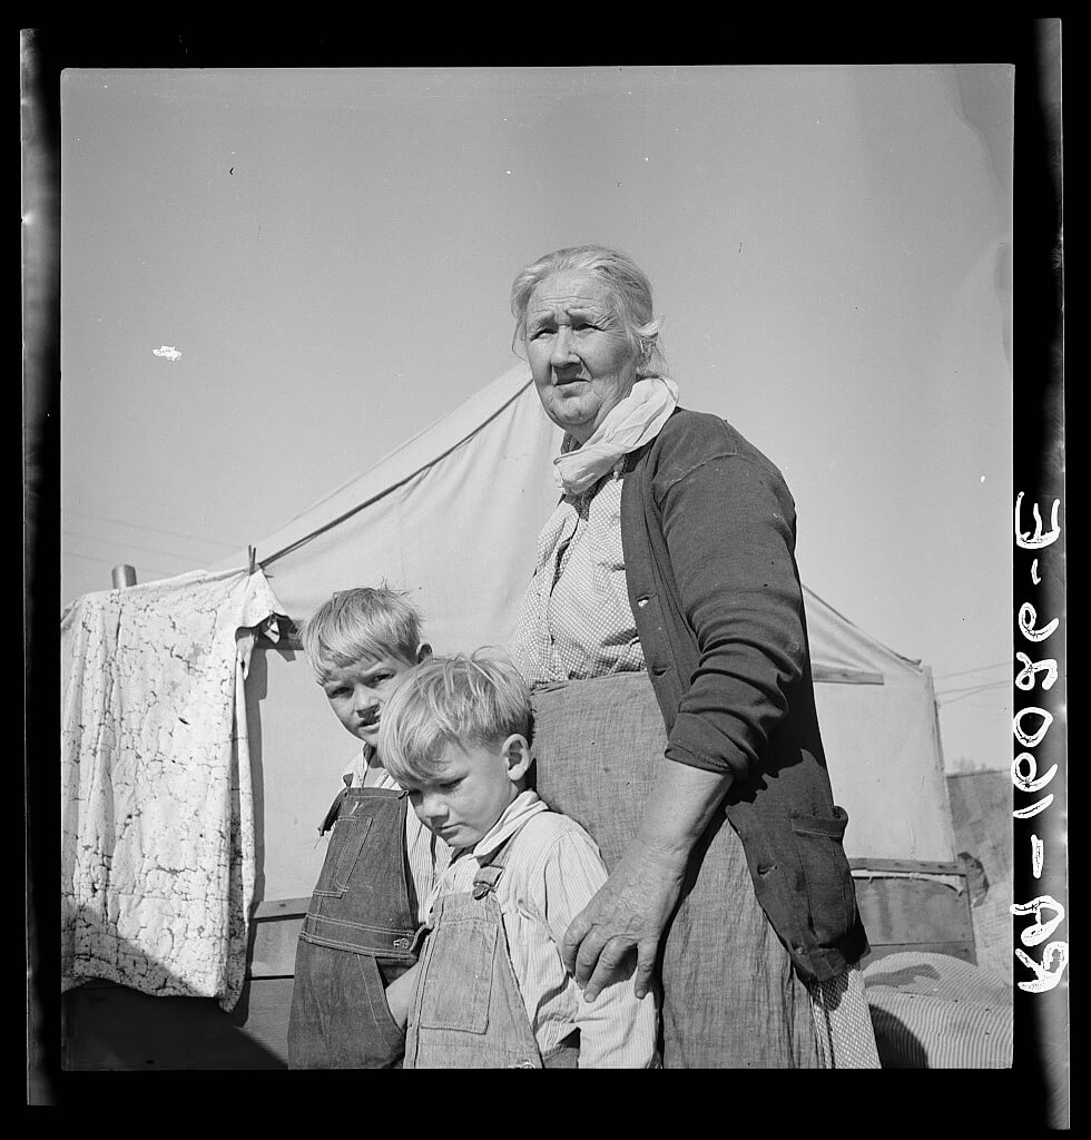
{"type": "Polygon", "coordinates": [[[738,453],[662,480],[656,497],[700,654],[666,755],[742,780],[806,667],[795,504],[775,467],[738,453]]]}

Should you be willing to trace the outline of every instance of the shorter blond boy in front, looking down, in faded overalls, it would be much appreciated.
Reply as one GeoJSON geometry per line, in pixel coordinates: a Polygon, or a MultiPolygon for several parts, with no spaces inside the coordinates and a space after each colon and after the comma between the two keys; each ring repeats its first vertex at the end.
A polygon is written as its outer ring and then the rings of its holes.
{"type": "Polygon", "coordinates": [[[386,705],[386,768],[453,848],[421,960],[386,990],[408,1023],[406,1068],[653,1066],[654,1002],[630,977],[587,1002],[564,968],[564,931],[606,870],[591,836],[527,788],[529,735],[526,682],[480,653],[418,666],[386,705]]]}

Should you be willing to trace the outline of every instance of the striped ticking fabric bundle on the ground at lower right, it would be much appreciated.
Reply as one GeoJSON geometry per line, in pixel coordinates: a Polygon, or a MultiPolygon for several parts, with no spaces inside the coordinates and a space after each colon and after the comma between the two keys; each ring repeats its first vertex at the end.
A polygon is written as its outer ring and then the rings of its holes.
{"type": "Polygon", "coordinates": [[[948,954],[887,954],[863,971],[884,1068],[1010,1068],[1011,985],[948,954]]]}

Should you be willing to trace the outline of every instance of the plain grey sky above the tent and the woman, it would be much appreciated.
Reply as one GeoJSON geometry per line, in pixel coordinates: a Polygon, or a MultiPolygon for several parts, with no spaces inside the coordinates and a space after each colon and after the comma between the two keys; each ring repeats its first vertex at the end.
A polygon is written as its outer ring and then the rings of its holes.
{"type": "Polygon", "coordinates": [[[62,604],[259,543],[514,363],[522,264],[601,242],[683,405],[783,471],[807,585],[933,668],[948,765],[1007,767],[1012,82],[65,72],[62,604]]]}

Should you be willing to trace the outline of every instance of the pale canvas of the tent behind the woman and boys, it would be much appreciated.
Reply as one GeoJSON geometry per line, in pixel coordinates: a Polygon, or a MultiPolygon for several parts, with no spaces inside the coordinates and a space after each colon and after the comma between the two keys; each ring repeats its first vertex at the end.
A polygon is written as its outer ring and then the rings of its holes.
{"type": "MultiPolygon", "coordinates": [[[[259,538],[258,561],[296,620],[336,589],[386,581],[412,593],[438,652],[503,644],[556,502],[560,437],[518,365],[259,538]]],[[[239,552],[221,565],[245,561],[239,552]]],[[[930,670],[805,593],[823,740],[852,821],[849,855],[953,861],[930,670]]],[[[266,898],[310,890],[321,857],[314,825],[352,750],[309,670],[287,660],[295,656],[267,652],[247,682],[261,693],[247,690],[261,718],[251,736],[262,754],[266,898]]]]}

